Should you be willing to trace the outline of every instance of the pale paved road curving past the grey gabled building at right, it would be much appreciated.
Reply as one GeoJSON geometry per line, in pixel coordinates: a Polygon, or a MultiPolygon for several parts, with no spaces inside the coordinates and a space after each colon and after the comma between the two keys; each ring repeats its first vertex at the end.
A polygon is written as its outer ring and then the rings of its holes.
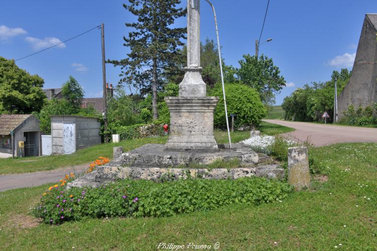
{"type": "Polygon", "coordinates": [[[277,119],[263,119],[263,121],[294,128],[296,131],[284,135],[300,141],[305,141],[310,137],[311,143],[315,146],[346,142],[377,142],[377,128],[345,127],[277,119]]]}

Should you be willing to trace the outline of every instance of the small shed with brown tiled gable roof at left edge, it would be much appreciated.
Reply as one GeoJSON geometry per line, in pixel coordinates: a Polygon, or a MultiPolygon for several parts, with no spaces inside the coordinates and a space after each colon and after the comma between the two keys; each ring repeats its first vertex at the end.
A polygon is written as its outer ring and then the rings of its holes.
{"type": "Polygon", "coordinates": [[[40,155],[40,121],[31,114],[0,115],[0,156],[31,157],[40,155]],[[24,148],[20,148],[24,145],[24,148]]]}

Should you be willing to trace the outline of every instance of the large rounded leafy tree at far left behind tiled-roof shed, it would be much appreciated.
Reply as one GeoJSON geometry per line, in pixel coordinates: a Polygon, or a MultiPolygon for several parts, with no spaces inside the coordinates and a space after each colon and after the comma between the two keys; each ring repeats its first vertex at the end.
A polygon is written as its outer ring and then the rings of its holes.
{"type": "Polygon", "coordinates": [[[20,69],[14,60],[0,57],[0,113],[40,111],[46,95],[44,80],[20,69]]]}

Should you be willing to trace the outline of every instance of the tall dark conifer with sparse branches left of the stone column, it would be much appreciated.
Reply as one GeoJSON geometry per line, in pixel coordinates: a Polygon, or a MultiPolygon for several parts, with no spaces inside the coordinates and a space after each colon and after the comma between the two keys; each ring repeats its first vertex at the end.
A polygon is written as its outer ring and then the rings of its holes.
{"type": "Polygon", "coordinates": [[[120,82],[132,82],[141,94],[152,92],[153,118],[158,117],[157,90],[162,88],[161,74],[181,60],[178,49],[185,39],[185,28],[172,28],[175,19],[185,16],[186,10],[176,8],[179,0],[129,0],[123,7],[138,19],[137,23],[126,23],[133,28],[128,38],[123,37],[124,46],[131,52],[127,58],[108,60],[121,66],[120,82]]]}

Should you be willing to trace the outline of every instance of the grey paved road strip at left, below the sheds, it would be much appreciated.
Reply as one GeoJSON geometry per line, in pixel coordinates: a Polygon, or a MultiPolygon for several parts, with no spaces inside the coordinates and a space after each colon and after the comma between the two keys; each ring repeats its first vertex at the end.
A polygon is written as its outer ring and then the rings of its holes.
{"type": "Polygon", "coordinates": [[[80,174],[88,168],[88,165],[80,165],[66,168],[59,168],[52,171],[0,175],[0,192],[9,189],[22,187],[35,187],[43,184],[56,182],[64,178],[66,174],[80,174]]]}

